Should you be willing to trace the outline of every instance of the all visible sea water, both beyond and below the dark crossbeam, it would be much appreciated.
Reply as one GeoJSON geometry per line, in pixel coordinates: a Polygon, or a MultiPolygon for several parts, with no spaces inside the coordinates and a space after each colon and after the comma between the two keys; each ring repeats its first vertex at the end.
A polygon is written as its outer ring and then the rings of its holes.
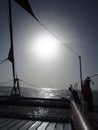
{"type": "MultiPolygon", "coordinates": [[[[0,87],[1,95],[9,95],[11,88],[8,87],[0,87]]],[[[61,97],[68,97],[69,92],[66,90],[36,90],[32,88],[21,88],[21,92],[23,96],[26,97],[41,97],[41,98],[60,98],[57,97],[58,94],[61,97]]],[[[93,99],[94,99],[94,110],[95,110],[95,117],[98,118],[98,91],[93,92],[93,99]]],[[[41,101],[40,101],[41,102],[41,101]]],[[[15,115],[19,117],[29,117],[29,118],[66,118],[68,115],[68,111],[65,109],[56,109],[56,108],[45,108],[45,107],[17,107],[17,106],[0,106],[0,114],[2,115],[15,115]]]]}

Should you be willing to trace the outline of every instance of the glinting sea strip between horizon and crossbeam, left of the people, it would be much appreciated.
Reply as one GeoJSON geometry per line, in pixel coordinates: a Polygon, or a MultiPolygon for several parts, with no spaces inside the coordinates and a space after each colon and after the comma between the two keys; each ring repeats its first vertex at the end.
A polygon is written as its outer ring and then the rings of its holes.
{"type": "MultiPolygon", "coordinates": [[[[0,86],[0,94],[1,95],[10,95],[11,87],[0,86]]],[[[56,95],[60,96],[68,96],[69,92],[66,90],[55,90],[49,88],[25,88],[21,87],[21,95],[24,97],[40,97],[40,98],[59,98],[56,95]]]]}

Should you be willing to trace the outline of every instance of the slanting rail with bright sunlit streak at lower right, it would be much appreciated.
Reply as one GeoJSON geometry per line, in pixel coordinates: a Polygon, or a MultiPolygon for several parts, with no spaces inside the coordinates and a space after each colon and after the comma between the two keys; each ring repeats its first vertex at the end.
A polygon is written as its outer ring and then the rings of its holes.
{"type": "Polygon", "coordinates": [[[75,130],[94,130],[87,113],[83,112],[73,100],[71,100],[71,111],[75,130]]]}

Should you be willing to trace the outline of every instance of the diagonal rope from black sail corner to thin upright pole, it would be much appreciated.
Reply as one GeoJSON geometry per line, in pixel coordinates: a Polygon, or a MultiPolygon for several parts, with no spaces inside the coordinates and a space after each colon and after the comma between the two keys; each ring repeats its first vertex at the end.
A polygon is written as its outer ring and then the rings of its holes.
{"type": "MultiPolygon", "coordinates": [[[[32,15],[33,16],[33,15],[32,15]]],[[[33,16],[33,18],[42,26],[44,27],[50,34],[52,34],[58,41],[60,41],[65,47],[67,47],[71,52],[73,52],[75,55],[79,56],[79,54],[74,51],[71,47],[69,47],[67,45],[67,43],[63,42],[59,37],[57,37],[56,34],[54,34],[51,30],[49,30],[43,23],[41,23],[41,21],[35,16],[33,16]]]]}

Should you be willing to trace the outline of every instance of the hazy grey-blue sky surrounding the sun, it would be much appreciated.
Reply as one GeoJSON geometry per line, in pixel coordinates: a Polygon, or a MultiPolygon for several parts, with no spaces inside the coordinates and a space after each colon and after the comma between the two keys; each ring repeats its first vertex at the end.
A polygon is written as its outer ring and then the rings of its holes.
{"type": "MultiPolygon", "coordinates": [[[[83,79],[98,73],[98,0],[29,0],[29,2],[37,18],[82,56],[83,79]]],[[[69,84],[79,83],[78,56],[39,25],[14,0],[12,0],[12,13],[18,77],[43,88],[67,88],[69,84]],[[48,52],[47,46],[52,41],[55,48],[52,50],[55,52],[53,55],[35,53],[36,44],[45,42],[47,45],[44,50],[48,52]]],[[[8,22],[8,0],[0,0],[0,60],[8,56],[10,49],[8,22]]],[[[11,63],[7,61],[0,65],[0,82],[11,79],[11,63]]],[[[97,88],[98,84],[95,86],[97,88]]]]}

